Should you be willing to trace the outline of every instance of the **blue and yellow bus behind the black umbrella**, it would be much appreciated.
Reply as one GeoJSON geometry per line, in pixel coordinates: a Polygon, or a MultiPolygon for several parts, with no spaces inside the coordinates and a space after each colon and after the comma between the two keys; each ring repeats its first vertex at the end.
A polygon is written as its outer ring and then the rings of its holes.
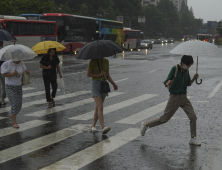
{"type": "Polygon", "coordinates": [[[123,46],[123,23],[104,19],[96,19],[96,30],[99,33],[99,39],[112,40],[123,46]]]}

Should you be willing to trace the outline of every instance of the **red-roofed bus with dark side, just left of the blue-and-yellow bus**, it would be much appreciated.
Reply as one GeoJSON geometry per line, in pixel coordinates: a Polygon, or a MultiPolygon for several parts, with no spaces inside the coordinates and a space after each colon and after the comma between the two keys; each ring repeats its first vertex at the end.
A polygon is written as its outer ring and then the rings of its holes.
{"type": "Polygon", "coordinates": [[[44,13],[41,19],[57,23],[58,41],[66,47],[63,52],[78,51],[88,42],[95,40],[95,18],[60,13],[44,13]]]}

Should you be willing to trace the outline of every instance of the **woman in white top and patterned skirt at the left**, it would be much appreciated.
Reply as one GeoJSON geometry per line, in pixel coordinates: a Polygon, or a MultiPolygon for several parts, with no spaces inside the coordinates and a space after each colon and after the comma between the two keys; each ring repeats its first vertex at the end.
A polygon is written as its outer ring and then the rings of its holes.
{"type": "Polygon", "coordinates": [[[5,77],[6,95],[11,103],[10,117],[13,128],[19,128],[16,116],[22,108],[22,75],[23,70],[29,75],[23,61],[6,61],[1,66],[2,76],[5,77]]]}

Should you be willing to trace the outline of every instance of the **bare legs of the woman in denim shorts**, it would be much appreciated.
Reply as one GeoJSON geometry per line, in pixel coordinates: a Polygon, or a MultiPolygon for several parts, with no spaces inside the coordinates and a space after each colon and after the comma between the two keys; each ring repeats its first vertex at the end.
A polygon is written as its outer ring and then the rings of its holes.
{"type": "Polygon", "coordinates": [[[105,101],[105,98],[103,99],[101,96],[96,96],[93,98],[96,102],[96,109],[94,113],[94,120],[93,120],[93,127],[95,127],[97,120],[99,119],[99,122],[101,124],[102,129],[105,127],[104,125],[104,118],[103,118],[103,103],[105,101]]]}

